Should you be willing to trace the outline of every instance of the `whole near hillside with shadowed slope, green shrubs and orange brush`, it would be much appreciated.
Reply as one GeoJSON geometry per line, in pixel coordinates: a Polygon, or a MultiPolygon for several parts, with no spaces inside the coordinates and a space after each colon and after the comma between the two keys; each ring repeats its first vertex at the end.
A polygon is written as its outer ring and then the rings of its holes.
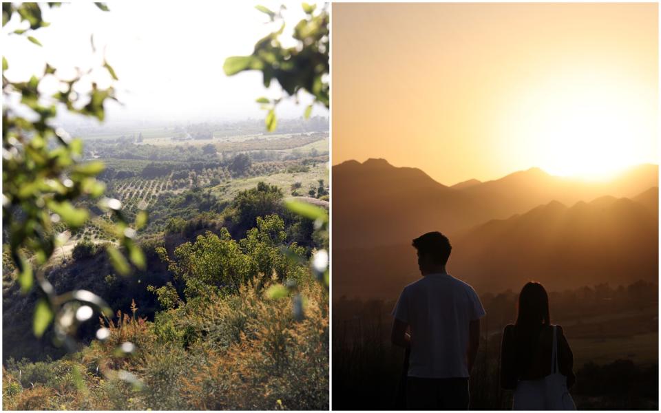
{"type": "Polygon", "coordinates": [[[8,282],[4,408],[328,408],[328,292],[309,264],[328,237],[282,198],[260,183],[220,213],[196,204],[198,218],[171,218],[142,240],[147,270],[132,277],[112,273],[103,244],[50,268],[56,288],[92,290],[117,310],[81,326],[86,344],[74,354],[54,348],[50,332],[32,337],[20,309],[36,297],[8,282]],[[134,347],[118,353],[125,343],[134,347]]]}

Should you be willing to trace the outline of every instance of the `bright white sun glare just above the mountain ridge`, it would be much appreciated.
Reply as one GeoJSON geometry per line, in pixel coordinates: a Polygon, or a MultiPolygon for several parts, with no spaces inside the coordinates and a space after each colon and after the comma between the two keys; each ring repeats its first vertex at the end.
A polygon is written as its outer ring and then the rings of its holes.
{"type": "Polygon", "coordinates": [[[649,116],[636,91],[624,86],[565,78],[529,91],[521,132],[530,137],[538,166],[552,175],[602,180],[653,160],[649,116]]]}

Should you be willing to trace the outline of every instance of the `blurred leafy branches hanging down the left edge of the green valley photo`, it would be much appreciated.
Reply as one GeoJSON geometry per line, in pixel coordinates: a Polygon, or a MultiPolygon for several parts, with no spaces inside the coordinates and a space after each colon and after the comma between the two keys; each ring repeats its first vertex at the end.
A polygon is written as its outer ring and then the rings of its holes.
{"type": "MultiPolygon", "coordinates": [[[[102,3],[96,5],[107,11],[102,3]]],[[[49,25],[42,19],[42,8],[59,6],[60,3],[3,3],[3,26],[14,16],[28,21],[30,28],[10,34],[25,36],[35,45],[41,45],[32,34],[49,25]]],[[[74,290],[58,295],[43,274],[54,248],[67,241],[68,232],[64,230],[81,228],[93,215],[90,209],[77,204],[81,200],[98,200],[98,209],[114,218],[112,229],[129,260],[139,268],[145,265],[144,255],[134,242],[136,231],[125,219],[121,203],[104,198],[105,185],[95,178],[103,171],[103,163],[81,162],[83,142],[56,126],[59,109],[103,120],[105,103],[116,100],[114,89],[112,86],[102,89],[92,83],[89,94],[74,92],[76,85],[84,84],[83,78],[94,69],[86,72],[78,69],[74,78],[63,79],[57,76],[56,68],[48,64],[43,74],[34,75],[27,82],[10,81],[4,73],[10,65],[3,56],[3,235],[8,238],[23,293],[35,289],[42,297],[34,311],[35,335],[43,335],[53,322],[54,341],[65,343],[71,349],[78,324],[91,317],[87,308],[112,315],[105,301],[89,291],[74,290]],[[44,79],[58,82],[59,92],[43,93],[40,84],[44,79]],[[78,311],[81,308],[83,310],[78,311]]],[[[101,70],[116,79],[114,70],[105,60],[101,70]]],[[[116,246],[106,249],[118,273],[126,275],[130,266],[125,255],[116,246]]]]}

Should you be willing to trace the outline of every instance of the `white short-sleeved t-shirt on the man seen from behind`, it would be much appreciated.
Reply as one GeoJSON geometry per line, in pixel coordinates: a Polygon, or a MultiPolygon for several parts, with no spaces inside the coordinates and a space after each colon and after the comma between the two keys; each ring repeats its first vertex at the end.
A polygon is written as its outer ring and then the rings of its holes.
{"type": "Polygon", "coordinates": [[[468,325],[485,314],[475,290],[450,274],[429,274],[406,286],[392,315],[410,326],[408,376],[469,377],[468,325]]]}

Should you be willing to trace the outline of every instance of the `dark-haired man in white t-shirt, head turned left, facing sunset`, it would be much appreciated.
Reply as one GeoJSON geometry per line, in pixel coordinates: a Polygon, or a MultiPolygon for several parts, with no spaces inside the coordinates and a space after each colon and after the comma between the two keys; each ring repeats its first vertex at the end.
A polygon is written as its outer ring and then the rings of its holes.
{"type": "Polygon", "coordinates": [[[406,407],[468,410],[484,308],[470,285],[445,271],[452,251],[448,237],[426,233],[413,246],[423,277],[404,288],[392,311],[392,343],[410,348],[406,407]]]}

